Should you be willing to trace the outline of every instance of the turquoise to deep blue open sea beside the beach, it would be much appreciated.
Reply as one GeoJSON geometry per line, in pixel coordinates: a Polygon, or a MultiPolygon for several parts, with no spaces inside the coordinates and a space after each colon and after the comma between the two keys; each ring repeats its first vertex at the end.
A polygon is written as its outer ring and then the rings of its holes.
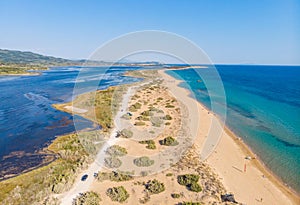
{"type": "MultiPolygon", "coordinates": [[[[300,66],[217,65],[216,69],[225,90],[226,125],[300,192],[300,66]]],[[[213,101],[214,111],[224,119],[225,105],[213,69],[196,71],[168,72],[183,79],[181,86],[192,90],[206,107],[211,108],[213,101]]]]}

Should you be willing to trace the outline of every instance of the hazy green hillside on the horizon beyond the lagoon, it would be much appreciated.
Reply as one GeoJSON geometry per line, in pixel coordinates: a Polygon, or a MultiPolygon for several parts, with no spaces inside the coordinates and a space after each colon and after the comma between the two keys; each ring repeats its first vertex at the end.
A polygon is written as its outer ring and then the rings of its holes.
{"type": "Polygon", "coordinates": [[[4,64],[29,64],[29,65],[58,65],[76,64],[80,61],[72,61],[52,56],[44,56],[28,51],[14,51],[0,49],[0,63],[4,64]]]}

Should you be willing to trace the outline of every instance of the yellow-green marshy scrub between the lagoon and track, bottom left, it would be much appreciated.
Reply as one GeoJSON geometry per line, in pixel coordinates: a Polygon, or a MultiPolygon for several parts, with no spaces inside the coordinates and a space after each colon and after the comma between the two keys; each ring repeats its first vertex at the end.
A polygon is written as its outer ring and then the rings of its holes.
{"type": "Polygon", "coordinates": [[[43,203],[51,194],[69,190],[80,170],[92,160],[76,134],[58,137],[48,149],[59,155],[56,161],[0,182],[0,204],[43,203]]]}

